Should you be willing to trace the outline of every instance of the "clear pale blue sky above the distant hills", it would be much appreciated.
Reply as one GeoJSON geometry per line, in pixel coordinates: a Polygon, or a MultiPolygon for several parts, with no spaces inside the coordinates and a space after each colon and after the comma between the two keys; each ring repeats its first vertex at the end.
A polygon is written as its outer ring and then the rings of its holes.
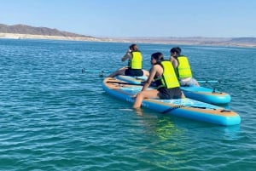
{"type": "Polygon", "coordinates": [[[0,0],[0,24],[93,37],[256,37],[255,0],[0,0]]]}

